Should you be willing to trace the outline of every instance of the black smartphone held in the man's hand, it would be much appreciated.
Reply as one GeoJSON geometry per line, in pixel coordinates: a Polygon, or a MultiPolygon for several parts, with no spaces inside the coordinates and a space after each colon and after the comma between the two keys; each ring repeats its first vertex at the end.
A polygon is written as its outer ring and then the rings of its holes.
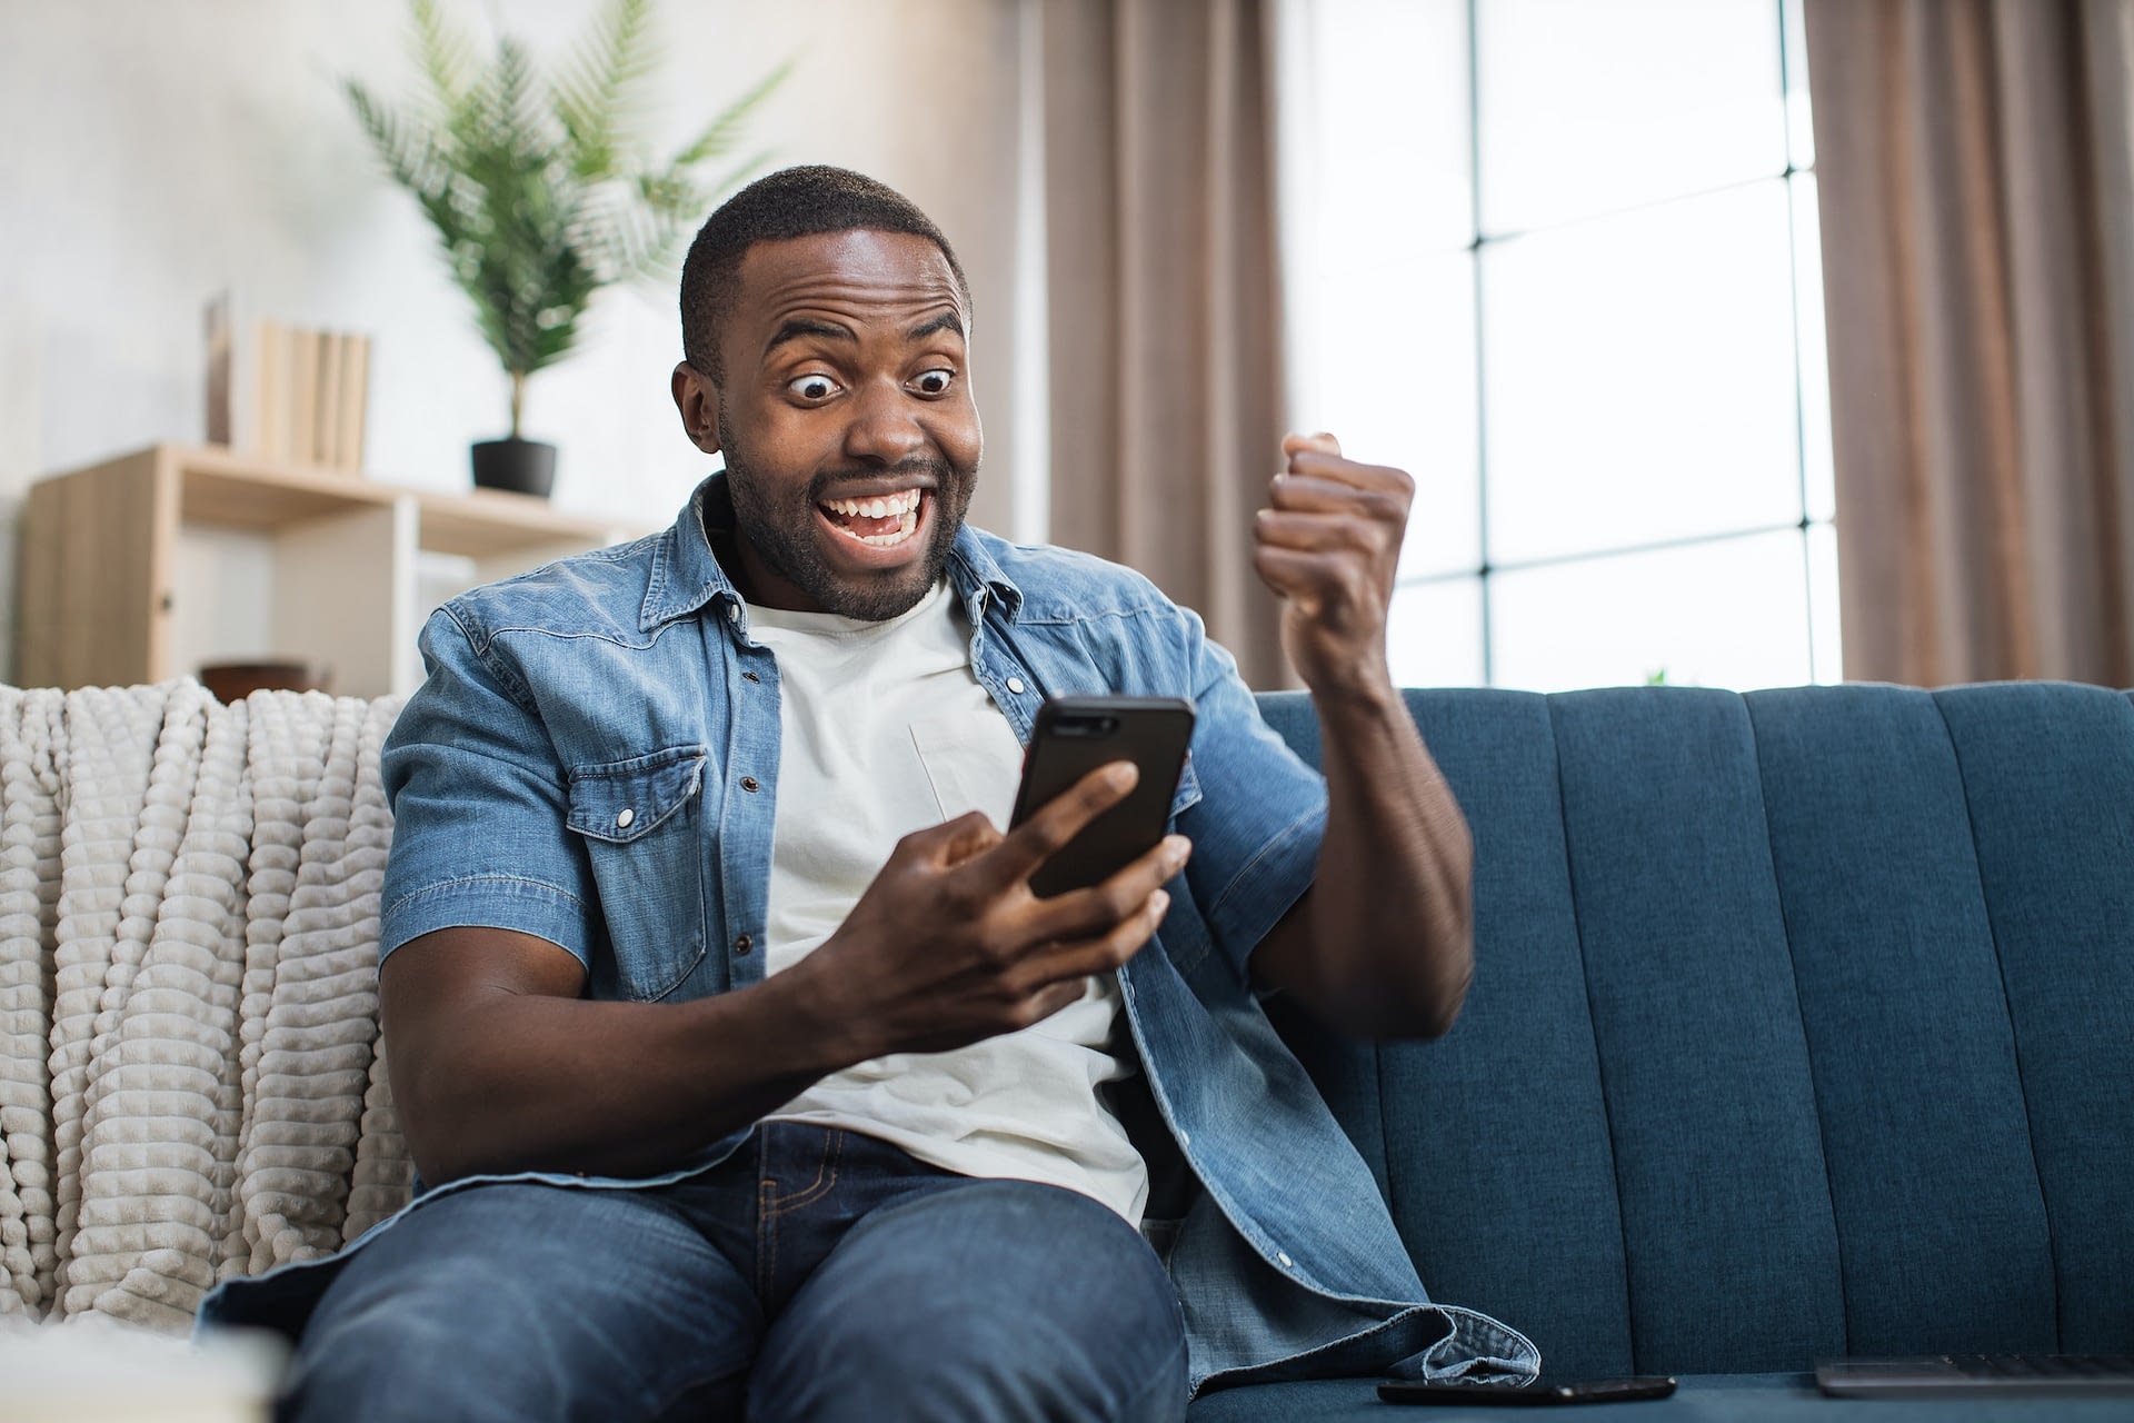
{"type": "Polygon", "coordinates": [[[1022,787],[1009,828],[1108,762],[1133,762],[1142,779],[1127,798],[1082,826],[1031,875],[1031,892],[1052,898],[1127,868],[1163,838],[1172,796],[1193,740],[1193,704],[1180,698],[1052,698],[1037,708],[1022,753],[1022,787]]]}

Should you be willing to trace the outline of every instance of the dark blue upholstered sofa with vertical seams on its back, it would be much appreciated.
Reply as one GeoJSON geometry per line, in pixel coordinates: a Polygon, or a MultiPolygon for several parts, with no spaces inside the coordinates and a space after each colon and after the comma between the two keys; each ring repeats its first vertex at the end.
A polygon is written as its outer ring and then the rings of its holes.
{"type": "MultiPolygon", "coordinates": [[[[1302,695],[1263,706],[1317,757],[1302,695]]],[[[1411,708],[1475,832],[1466,1011],[1436,1043],[1278,1022],[1434,1295],[1526,1331],[1547,1372],[1682,1376],[1603,1423],[2134,1417],[2128,1397],[1840,1402],[1807,1372],[2134,1350],[2125,693],[1411,708]]],[[[1327,1380],[1191,1417],[1404,1414],[1327,1380]]]]}

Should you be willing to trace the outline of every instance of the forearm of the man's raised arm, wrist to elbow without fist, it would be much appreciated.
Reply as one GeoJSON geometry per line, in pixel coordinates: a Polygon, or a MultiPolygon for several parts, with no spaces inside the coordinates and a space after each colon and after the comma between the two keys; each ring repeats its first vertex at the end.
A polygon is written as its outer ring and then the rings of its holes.
{"type": "Polygon", "coordinates": [[[1327,779],[1308,902],[1317,1007],[1351,1033],[1436,1037],[1475,973],[1466,817],[1389,681],[1312,702],[1327,779]]]}

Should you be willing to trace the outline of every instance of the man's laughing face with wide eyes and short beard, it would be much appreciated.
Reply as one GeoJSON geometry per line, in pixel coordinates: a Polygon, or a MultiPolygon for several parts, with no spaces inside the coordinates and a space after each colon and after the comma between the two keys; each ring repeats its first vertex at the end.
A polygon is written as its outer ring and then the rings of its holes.
{"type": "Polygon", "coordinates": [[[969,305],[918,233],[794,237],[683,275],[685,309],[728,309],[685,326],[674,403],[726,457],[749,602],[879,621],[941,582],[984,446],[969,305]]]}

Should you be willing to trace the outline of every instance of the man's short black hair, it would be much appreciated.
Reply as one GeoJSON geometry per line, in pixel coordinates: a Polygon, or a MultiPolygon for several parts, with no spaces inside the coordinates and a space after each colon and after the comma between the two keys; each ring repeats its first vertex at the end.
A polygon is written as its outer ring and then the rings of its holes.
{"type": "Polygon", "coordinates": [[[971,284],[956,250],[911,198],[864,173],[809,164],[755,179],[704,220],[681,265],[683,361],[726,380],[719,369],[719,322],[740,286],[740,258],[760,241],[787,241],[819,233],[909,233],[941,247],[956,273],[956,292],[971,307],[971,284]]]}

